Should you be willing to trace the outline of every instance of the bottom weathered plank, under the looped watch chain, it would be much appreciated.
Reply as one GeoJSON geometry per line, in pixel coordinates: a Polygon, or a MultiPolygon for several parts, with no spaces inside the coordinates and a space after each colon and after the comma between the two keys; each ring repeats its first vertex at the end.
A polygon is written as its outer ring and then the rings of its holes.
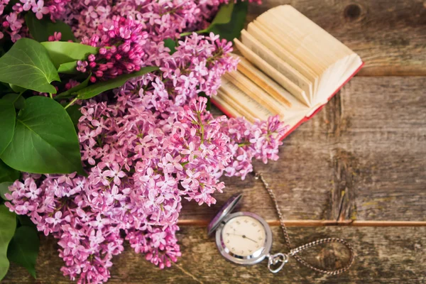
{"type": "MultiPolygon", "coordinates": [[[[285,251],[278,227],[273,228],[273,251],[285,251]]],[[[354,245],[357,257],[347,273],[325,276],[302,268],[290,259],[273,274],[266,261],[256,266],[236,266],[219,256],[204,227],[182,227],[183,256],[172,268],[160,271],[129,246],[114,259],[109,283],[425,283],[426,227],[404,228],[291,228],[295,246],[327,236],[342,237],[354,245]]],[[[347,253],[342,246],[326,246],[303,254],[312,264],[333,269],[342,266],[347,253]],[[309,256],[309,257],[308,257],[309,256]],[[343,261],[340,259],[342,257],[343,261]]],[[[2,283],[71,283],[60,273],[62,261],[53,239],[43,239],[38,257],[38,280],[24,268],[12,265],[2,283]]]]}

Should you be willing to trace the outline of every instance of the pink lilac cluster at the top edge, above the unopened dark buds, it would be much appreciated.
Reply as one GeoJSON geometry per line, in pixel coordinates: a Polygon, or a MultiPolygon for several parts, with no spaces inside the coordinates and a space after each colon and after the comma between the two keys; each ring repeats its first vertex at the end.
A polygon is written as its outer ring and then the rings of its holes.
{"type": "Polygon", "coordinates": [[[141,23],[151,40],[178,38],[182,31],[205,28],[221,0],[86,0],[72,1],[64,21],[70,23],[78,37],[97,32],[97,27],[111,16],[131,18],[141,23]]]}

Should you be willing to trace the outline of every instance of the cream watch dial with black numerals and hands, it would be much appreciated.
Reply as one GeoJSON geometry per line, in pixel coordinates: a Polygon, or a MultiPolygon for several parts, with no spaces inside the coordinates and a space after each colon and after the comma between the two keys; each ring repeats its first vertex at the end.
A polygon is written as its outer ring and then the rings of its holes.
{"type": "Polygon", "coordinates": [[[250,256],[265,246],[266,231],[261,222],[253,217],[239,216],[226,222],[222,239],[231,253],[250,256]]]}

